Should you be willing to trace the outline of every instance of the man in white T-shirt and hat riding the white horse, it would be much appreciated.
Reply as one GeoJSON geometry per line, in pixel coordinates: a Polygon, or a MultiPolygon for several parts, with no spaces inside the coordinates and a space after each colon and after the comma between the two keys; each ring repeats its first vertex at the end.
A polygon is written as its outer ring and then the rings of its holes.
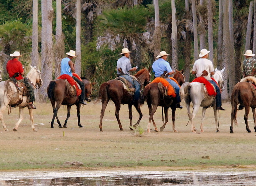
{"type": "Polygon", "coordinates": [[[192,74],[196,74],[196,77],[204,77],[208,80],[216,89],[216,109],[217,110],[225,110],[221,107],[221,94],[219,86],[211,79],[211,76],[214,75],[214,68],[212,62],[207,59],[209,56],[209,50],[201,49],[199,54],[199,59],[194,62],[192,68],[192,74]]]}

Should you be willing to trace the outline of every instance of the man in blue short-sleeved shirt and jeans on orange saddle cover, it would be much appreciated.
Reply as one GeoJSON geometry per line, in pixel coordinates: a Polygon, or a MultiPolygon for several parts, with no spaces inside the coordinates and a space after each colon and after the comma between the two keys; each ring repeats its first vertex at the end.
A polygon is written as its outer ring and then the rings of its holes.
{"type": "MultiPolygon", "coordinates": [[[[165,78],[166,75],[171,75],[173,73],[175,73],[175,70],[172,70],[170,63],[168,61],[166,61],[167,56],[170,55],[168,53],[166,53],[166,51],[161,51],[159,53],[159,55],[157,56],[157,59],[153,64],[152,64],[152,68],[153,68],[153,72],[155,73],[155,78],[156,77],[163,77],[165,78]]],[[[182,109],[183,107],[180,105],[181,102],[181,97],[180,97],[180,87],[178,84],[176,84],[173,80],[168,81],[173,88],[175,89],[176,92],[176,108],[180,108],[182,109]]]]}

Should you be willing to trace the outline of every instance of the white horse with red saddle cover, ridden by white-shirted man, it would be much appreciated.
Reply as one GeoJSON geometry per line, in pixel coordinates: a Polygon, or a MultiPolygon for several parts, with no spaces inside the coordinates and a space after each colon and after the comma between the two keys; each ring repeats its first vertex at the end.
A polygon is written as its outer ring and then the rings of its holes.
{"type": "MultiPolygon", "coordinates": [[[[219,87],[223,89],[223,72],[225,68],[222,70],[218,70],[215,68],[215,74],[212,76],[216,82],[218,82],[219,87]]],[[[214,96],[209,96],[207,94],[206,88],[203,83],[199,82],[185,82],[180,89],[181,99],[184,99],[186,103],[186,107],[188,110],[189,119],[191,121],[191,131],[196,133],[196,129],[194,127],[193,120],[195,118],[196,113],[198,112],[199,107],[202,107],[202,120],[201,120],[201,133],[203,133],[203,121],[205,117],[205,111],[208,107],[213,108],[215,124],[216,124],[216,132],[218,130],[218,121],[217,121],[217,110],[216,110],[216,101],[214,96]],[[190,103],[193,104],[193,111],[190,112],[190,103]]]]}

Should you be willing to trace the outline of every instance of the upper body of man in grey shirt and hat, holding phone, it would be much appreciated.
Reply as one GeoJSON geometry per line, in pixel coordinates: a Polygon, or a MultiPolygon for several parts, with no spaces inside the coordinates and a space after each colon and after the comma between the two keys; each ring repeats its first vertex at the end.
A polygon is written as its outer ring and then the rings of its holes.
{"type": "Polygon", "coordinates": [[[129,59],[131,51],[129,51],[128,48],[123,48],[122,52],[120,53],[120,55],[122,55],[122,57],[120,57],[117,60],[117,65],[116,65],[116,69],[117,69],[117,76],[120,75],[130,75],[131,71],[137,70],[137,67],[133,67],[131,66],[131,62],[129,59]]]}

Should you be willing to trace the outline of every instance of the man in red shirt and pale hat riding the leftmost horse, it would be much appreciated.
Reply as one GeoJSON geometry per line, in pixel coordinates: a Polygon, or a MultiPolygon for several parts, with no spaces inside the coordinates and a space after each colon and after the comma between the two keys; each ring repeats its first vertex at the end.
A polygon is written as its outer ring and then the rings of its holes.
{"type": "Polygon", "coordinates": [[[21,62],[19,61],[20,59],[20,52],[15,51],[10,54],[11,57],[13,57],[11,60],[9,60],[6,64],[6,70],[9,74],[9,77],[15,77],[18,81],[22,82],[28,89],[29,93],[29,109],[36,109],[35,105],[33,102],[35,101],[35,92],[34,92],[34,87],[30,83],[30,81],[27,78],[23,78],[22,75],[24,74],[24,70],[22,67],[21,62]]]}

